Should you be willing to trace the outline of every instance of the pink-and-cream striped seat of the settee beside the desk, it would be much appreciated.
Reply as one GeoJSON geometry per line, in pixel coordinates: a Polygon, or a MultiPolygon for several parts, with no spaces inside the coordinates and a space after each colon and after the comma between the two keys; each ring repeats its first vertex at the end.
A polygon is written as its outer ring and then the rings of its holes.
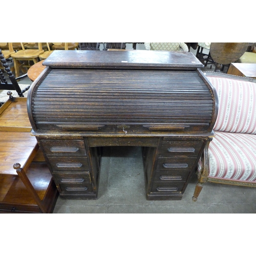
{"type": "Polygon", "coordinates": [[[216,132],[208,156],[209,178],[256,183],[256,135],[216,132]]]}

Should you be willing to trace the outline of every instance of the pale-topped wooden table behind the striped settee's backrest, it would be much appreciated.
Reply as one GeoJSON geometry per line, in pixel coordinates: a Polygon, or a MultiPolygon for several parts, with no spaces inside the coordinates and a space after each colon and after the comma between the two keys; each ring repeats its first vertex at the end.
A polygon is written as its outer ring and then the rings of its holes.
{"type": "Polygon", "coordinates": [[[227,74],[256,78],[256,63],[231,63],[227,74]]]}

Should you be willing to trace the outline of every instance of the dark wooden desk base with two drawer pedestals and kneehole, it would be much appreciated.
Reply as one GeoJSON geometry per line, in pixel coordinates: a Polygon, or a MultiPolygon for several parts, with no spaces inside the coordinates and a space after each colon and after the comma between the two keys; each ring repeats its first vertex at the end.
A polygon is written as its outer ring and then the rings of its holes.
{"type": "Polygon", "coordinates": [[[142,148],[147,200],[181,200],[208,137],[39,136],[63,198],[97,199],[104,146],[142,148]]]}

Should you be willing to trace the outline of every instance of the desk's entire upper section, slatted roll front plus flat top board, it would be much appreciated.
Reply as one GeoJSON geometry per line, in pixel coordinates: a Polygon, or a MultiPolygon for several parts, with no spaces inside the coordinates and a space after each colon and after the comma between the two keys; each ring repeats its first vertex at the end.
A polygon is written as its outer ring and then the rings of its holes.
{"type": "Polygon", "coordinates": [[[34,131],[211,132],[217,116],[191,53],[57,51],[44,65],[28,96],[34,131]]]}

